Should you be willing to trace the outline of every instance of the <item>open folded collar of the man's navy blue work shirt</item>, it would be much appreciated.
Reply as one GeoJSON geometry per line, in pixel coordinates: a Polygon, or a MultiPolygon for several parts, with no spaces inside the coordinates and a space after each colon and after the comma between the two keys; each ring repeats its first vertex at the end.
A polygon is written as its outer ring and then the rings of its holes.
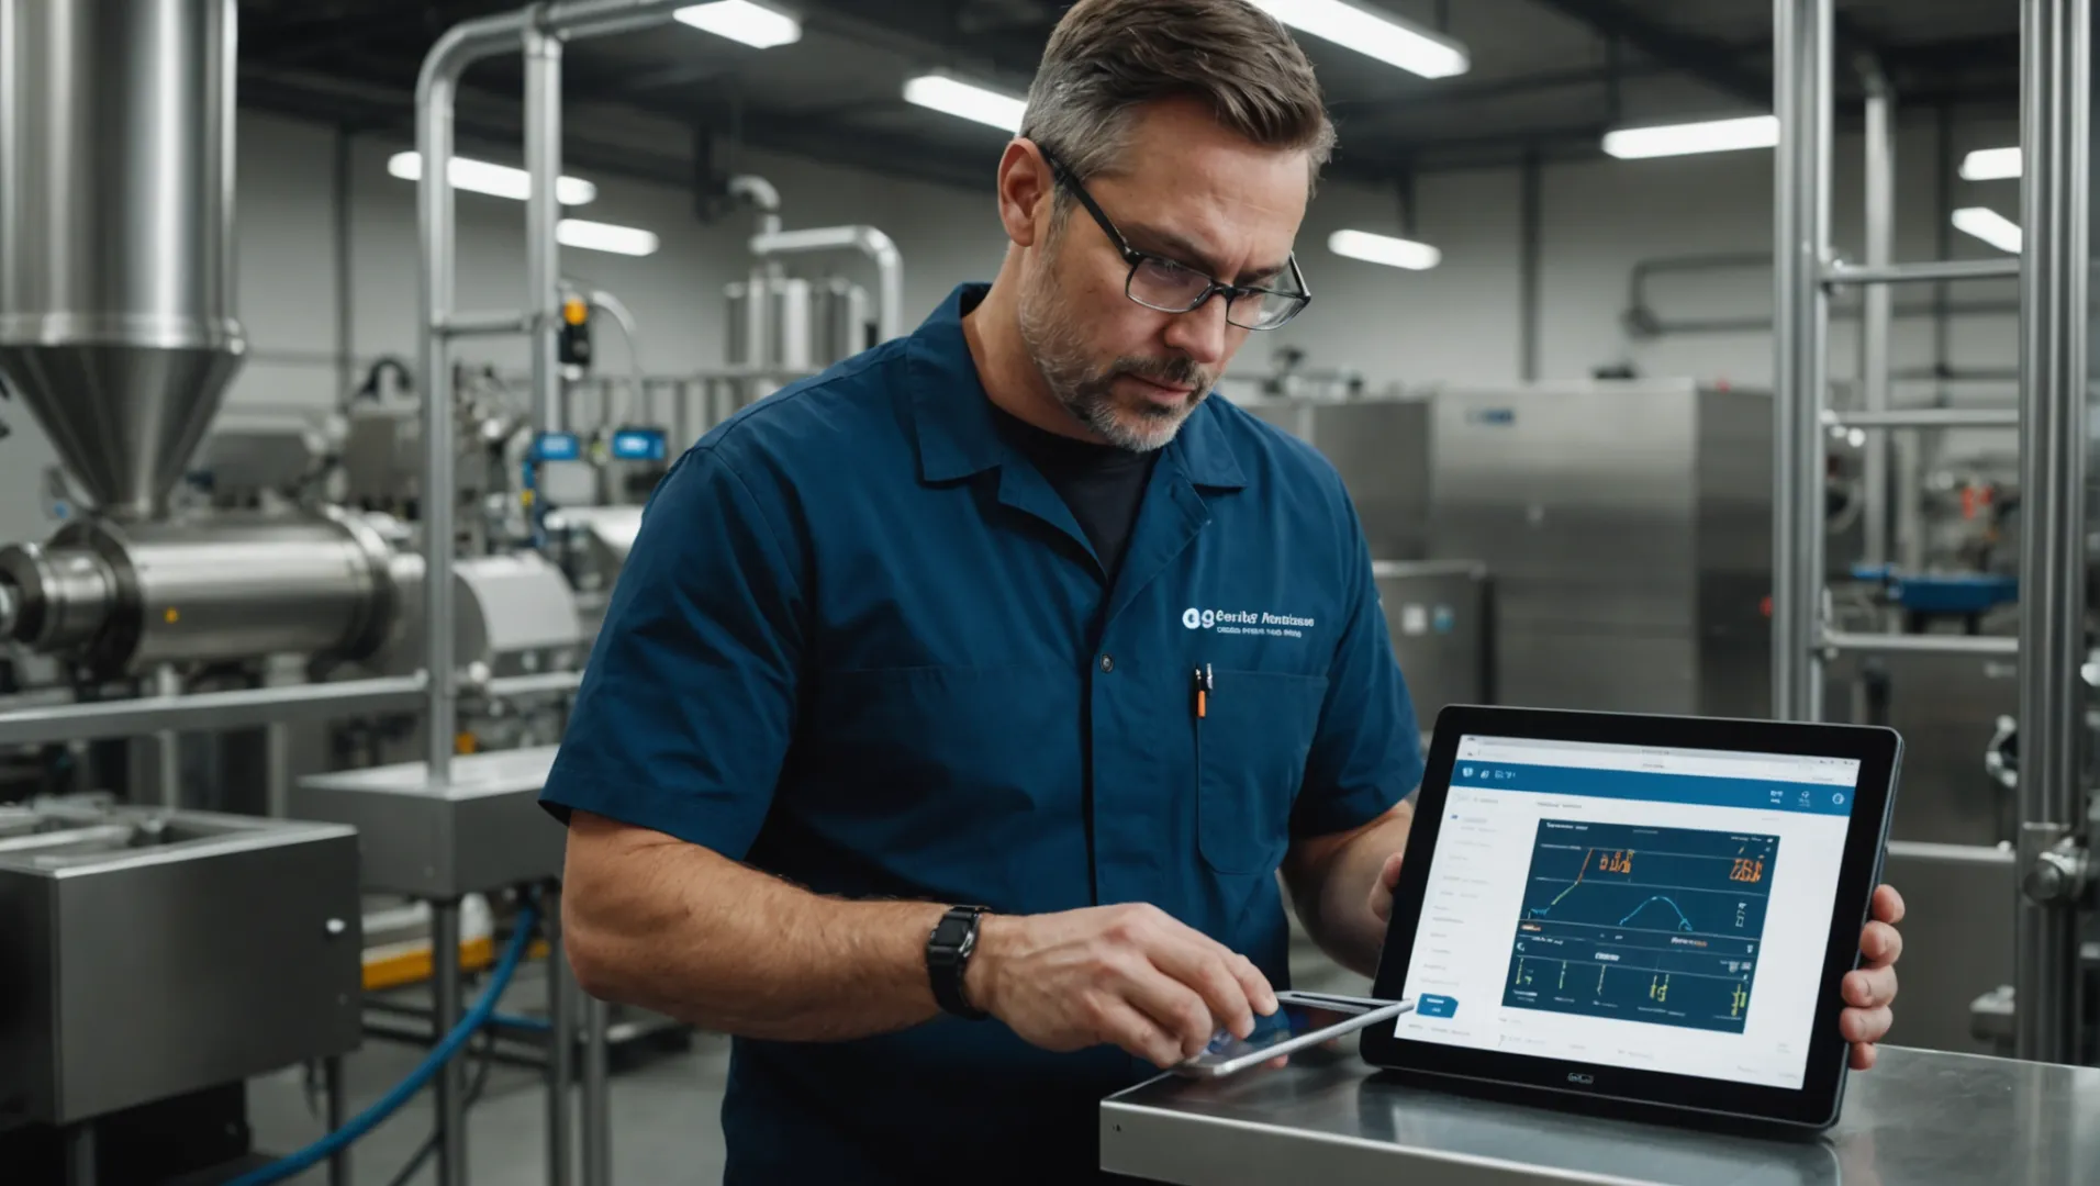
{"type": "MultiPolygon", "coordinates": [[[[985,283],[964,283],[911,334],[911,420],[920,451],[920,479],[945,483],[981,474],[1012,456],[1000,437],[991,397],[976,374],[962,317],[991,292],[985,283]]],[[[1168,456],[1195,485],[1239,489],[1247,485],[1224,432],[1224,409],[1212,395],[1189,416],[1168,456]]]]}

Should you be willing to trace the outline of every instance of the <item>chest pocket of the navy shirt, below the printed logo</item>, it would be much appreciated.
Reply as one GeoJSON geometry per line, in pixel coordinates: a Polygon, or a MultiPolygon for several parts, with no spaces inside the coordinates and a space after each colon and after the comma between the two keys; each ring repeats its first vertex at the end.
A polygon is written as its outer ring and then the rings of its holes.
{"type": "Polygon", "coordinates": [[[1218,873],[1273,873],[1327,697],[1325,676],[1212,672],[1195,722],[1197,846],[1218,873]]]}

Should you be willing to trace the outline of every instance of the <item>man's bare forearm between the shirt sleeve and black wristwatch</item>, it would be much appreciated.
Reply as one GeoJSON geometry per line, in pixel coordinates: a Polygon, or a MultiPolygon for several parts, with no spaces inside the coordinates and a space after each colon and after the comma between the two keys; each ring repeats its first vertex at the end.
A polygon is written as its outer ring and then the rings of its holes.
{"type": "Polygon", "coordinates": [[[842,1041],[939,1014],[945,907],[823,898],[718,852],[578,812],[563,938],[594,997],[716,1033],[842,1041]]]}

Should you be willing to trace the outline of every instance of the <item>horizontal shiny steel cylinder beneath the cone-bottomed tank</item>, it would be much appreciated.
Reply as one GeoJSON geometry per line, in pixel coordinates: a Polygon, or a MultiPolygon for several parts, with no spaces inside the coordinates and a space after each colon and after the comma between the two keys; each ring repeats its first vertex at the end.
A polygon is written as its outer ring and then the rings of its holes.
{"type": "Polygon", "coordinates": [[[82,521],[0,548],[10,636],[99,676],[160,663],[384,647],[401,607],[393,548],[361,516],[82,521]]]}

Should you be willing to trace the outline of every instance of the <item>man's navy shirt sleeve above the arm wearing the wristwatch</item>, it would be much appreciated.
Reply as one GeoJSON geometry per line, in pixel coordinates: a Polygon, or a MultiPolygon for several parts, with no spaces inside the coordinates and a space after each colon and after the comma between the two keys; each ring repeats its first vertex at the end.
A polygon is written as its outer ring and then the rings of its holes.
{"type": "Polygon", "coordinates": [[[550,812],[743,859],[788,754],[804,644],[800,550],[777,525],[718,447],[664,479],[540,796],[550,812]]]}

